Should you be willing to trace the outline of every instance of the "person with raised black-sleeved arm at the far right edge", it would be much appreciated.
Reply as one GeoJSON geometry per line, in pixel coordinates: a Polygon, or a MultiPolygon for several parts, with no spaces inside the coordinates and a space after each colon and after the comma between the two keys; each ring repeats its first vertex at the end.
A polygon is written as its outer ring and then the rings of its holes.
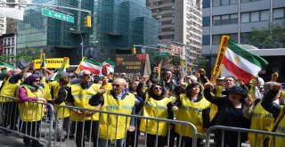
{"type": "MultiPolygon", "coordinates": [[[[281,95],[281,84],[275,83],[270,87],[268,93],[265,94],[264,99],[261,102],[261,106],[265,108],[268,112],[273,114],[275,119],[273,127],[271,130],[275,133],[284,134],[285,133],[285,108],[281,107],[279,104],[274,102],[275,97],[281,95]]],[[[275,146],[283,146],[285,143],[284,137],[270,137],[268,146],[273,146],[272,143],[275,143],[275,146]]]]}

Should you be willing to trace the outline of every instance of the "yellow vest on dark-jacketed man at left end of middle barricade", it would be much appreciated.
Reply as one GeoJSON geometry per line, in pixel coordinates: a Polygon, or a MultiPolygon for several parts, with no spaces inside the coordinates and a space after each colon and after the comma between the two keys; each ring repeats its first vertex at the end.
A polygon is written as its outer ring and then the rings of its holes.
{"type": "MultiPolygon", "coordinates": [[[[74,102],[73,105],[76,107],[81,107],[85,109],[95,110],[96,106],[91,106],[88,102],[89,99],[97,94],[101,85],[93,84],[88,89],[82,89],[79,83],[71,86],[71,94],[73,95],[74,102]]],[[[85,121],[85,120],[98,120],[99,113],[94,113],[92,116],[77,115],[75,112],[71,111],[71,120],[72,121],[85,121]]]]}

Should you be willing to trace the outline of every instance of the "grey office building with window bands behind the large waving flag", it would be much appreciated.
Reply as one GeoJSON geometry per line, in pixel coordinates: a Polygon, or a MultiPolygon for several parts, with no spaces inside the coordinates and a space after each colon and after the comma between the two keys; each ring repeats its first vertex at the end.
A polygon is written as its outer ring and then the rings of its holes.
{"type": "Polygon", "coordinates": [[[203,54],[211,69],[223,35],[239,44],[247,44],[252,30],[281,24],[285,19],[284,0],[204,0],[203,54]]]}

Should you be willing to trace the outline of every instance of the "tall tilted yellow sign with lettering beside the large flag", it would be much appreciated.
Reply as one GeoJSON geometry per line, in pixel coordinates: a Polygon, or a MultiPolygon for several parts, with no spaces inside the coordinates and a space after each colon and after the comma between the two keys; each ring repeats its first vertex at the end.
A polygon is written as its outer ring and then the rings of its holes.
{"type": "Polygon", "coordinates": [[[216,56],[216,64],[215,64],[215,67],[213,69],[213,78],[211,78],[212,83],[216,83],[216,78],[221,74],[224,54],[225,54],[226,47],[228,45],[229,39],[230,39],[229,36],[223,36],[221,39],[219,52],[217,53],[217,56],[216,56]]]}

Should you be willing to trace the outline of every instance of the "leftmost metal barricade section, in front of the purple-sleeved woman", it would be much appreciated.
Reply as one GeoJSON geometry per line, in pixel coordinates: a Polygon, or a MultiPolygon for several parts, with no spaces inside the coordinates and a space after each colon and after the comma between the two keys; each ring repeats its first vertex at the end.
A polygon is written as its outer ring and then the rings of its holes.
{"type": "Polygon", "coordinates": [[[20,102],[18,98],[0,95],[0,133],[23,135],[26,141],[38,141],[50,146],[53,115],[47,116],[46,109],[53,111],[53,105],[46,102],[20,102]]]}

